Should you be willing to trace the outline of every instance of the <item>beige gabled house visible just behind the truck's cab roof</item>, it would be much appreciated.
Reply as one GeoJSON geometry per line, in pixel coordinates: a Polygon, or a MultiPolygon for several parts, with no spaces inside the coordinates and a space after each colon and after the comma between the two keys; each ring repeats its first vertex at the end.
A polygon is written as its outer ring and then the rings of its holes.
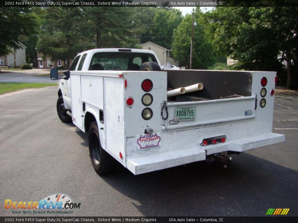
{"type": "Polygon", "coordinates": [[[171,50],[159,46],[152,42],[147,42],[141,45],[143,50],[152,50],[156,53],[161,65],[175,65],[178,67],[179,61],[173,59],[171,50]]]}

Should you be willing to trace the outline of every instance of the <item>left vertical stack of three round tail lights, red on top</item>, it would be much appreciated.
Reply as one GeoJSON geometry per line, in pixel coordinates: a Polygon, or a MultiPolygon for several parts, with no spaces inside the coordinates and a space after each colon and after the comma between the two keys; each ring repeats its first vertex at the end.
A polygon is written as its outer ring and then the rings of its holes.
{"type": "MultiPolygon", "coordinates": [[[[145,79],[142,84],[141,84],[141,87],[142,87],[142,90],[145,91],[145,92],[149,92],[152,90],[153,88],[153,83],[151,80],[149,79],[145,79]]],[[[151,105],[153,102],[153,97],[150,93],[146,93],[142,96],[142,104],[144,106],[149,106],[151,105]]],[[[143,109],[142,111],[142,118],[145,119],[145,120],[149,120],[151,119],[153,116],[153,112],[151,110],[151,108],[149,107],[146,107],[143,109]]]]}

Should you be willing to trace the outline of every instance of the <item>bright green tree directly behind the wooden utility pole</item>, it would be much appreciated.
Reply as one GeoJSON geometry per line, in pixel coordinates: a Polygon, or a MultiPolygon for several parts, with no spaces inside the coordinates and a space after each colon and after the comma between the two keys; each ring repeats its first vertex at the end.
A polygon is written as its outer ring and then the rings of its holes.
{"type": "MultiPolygon", "coordinates": [[[[215,62],[212,45],[207,41],[204,32],[203,13],[199,7],[194,12],[194,27],[192,68],[206,69],[215,62]]],[[[192,33],[192,15],[188,14],[174,30],[172,52],[174,59],[185,67],[189,67],[192,33]]]]}

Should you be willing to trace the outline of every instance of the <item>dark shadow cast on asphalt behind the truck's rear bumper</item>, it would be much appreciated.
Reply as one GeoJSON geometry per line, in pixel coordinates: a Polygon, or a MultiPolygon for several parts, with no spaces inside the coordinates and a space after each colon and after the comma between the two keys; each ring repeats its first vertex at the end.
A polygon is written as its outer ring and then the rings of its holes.
{"type": "Polygon", "coordinates": [[[144,216],[265,216],[269,208],[297,216],[297,171],[246,153],[233,158],[227,169],[197,162],[138,176],[122,168],[102,179],[144,216]]]}

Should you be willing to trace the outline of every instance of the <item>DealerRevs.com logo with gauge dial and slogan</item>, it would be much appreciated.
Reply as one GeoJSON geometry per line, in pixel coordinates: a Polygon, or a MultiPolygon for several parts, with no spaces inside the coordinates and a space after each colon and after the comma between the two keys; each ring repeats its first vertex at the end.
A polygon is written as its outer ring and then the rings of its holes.
{"type": "Polygon", "coordinates": [[[81,203],[75,203],[70,196],[52,194],[39,201],[12,201],[6,199],[4,208],[11,209],[12,214],[72,214],[81,208],[81,203]]]}

